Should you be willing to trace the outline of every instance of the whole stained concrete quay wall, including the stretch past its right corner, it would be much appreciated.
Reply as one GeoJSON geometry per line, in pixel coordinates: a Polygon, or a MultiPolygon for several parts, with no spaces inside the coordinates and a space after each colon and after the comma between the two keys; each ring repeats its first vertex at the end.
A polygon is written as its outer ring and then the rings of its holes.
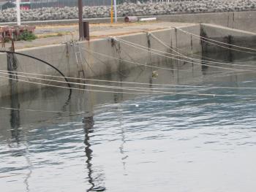
{"type": "MultiPolygon", "coordinates": [[[[232,28],[225,28],[222,26],[215,26],[211,24],[189,24],[187,26],[176,26],[176,28],[182,28],[184,31],[188,31],[192,34],[200,35],[203,30],[207,37],[213,39],[225,39],[226,37],[233,37],[239,39],[241,37],[255,38],[255,34],[251,32],[234,30],[232,28]]],[[[173,67],[171,61],[176,62],[175,64],[184,63],[181,61],[176,61],[175,59],[159,57],[155,53],[150,53],[147,50],[138,49],[137,47],[132,47],[130,45],[125,45],[119,42],[118,39],[124,39],[128,42],[133,42],[137,45],[142,45],[149,50],[149,47],[160,50],[167,53],[172,53],[171,49],[162,45],[159,41],[154,39],[151,34],[165,42],[165,45],[170,47],[178,47],[183,53],[198,53],[201,51],[200,38],[194,37],[192,35],[184,34],[184,32],[176,29],[170,28],[166,25],[165,28],[159,29],[154,28],[154,30],[146,30],[145,28],[138,28],[138,32],[135,28],[131,29],[131,33],[123,34],[122,31],[126,31],[126,28],[120,28],[118,34],[114,34],[117,40],[111,41],[110,38],[103,39],[92,39],[90,42],[79,42],[81,47],[82,56],[82,66],[77,64],[75,59],[75,47],[70,44],[60,44],[60,45],[48,45],[42,47],[26,48],[18,50],[20,53],[26,53],[29,55],[34,55],[42,60],[48,61],[48,63],[55,66],[61,72],[63,72],[67,77],[81,77],[78,73],[79,70],[83,69],[85,72],[85,77],[96,77],[99,75],[110,74],[113,72],[118,72],[123,74],[124,72],[129,72],[135,66],[140,66],[138,64],[146,66],[157,66],[160,62],[167,67],[173,67]],[[98,55],[96,53],[102,53],[108,55],[105,57],[103,55],[98,55]],[[134,62],[127,63],[115,58],[124,59],[126,61],[134,62]],[[138,63],[138,64],[135,64],[138,63]]],[[[116,32],[116,30],[114,30],[116,32]]],[[[106,37],[111,36],[110,31],[106,37]]],[[[237,43],[239,41],[237,40],[237,43]]],[[[252,41],[253,43],[255,42],[252,41]]],[[[50,66],[46,66],[39,61],[35,61],[31,58],[25,58],[23,56],[18,56],[18,72],[29,72],[36,74],[50,74],[59,75],[50,66]]],[[[1,69],[7,70],[6,54],[0,55],[0,66],[1,69]]],[[[140,66],[140,67],[146,67],[140,66]]],[[[151,67],[155,70],[154,67],[151,67]]],[[[21,78],[24,79],[24,78],[21,78]]],[[[26,77],[24,80],[45,83],[53,85],[53,82],[45,82],[42,80],[34,80],[31,77],[26,77]]],[[[63,80],[63,79],[62,79],[63,80]]],[[[9,85],[9,80],[1,79],[1,95],[9,96],[10,91],[7,85],[9,85]]],[[[66,83],[61,83],[62,86],[67,86],[66,83]]],[[[24,93],[27,91],[34,91],[38,89],[38,86],[45,87],[45,85],[33,85],[27,82],[18,82],[18,92],[24,93]]]]}

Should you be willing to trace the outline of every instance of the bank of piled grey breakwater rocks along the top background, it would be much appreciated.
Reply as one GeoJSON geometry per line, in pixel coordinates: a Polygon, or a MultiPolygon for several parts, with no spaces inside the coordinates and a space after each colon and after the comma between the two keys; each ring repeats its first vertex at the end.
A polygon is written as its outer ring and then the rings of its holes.
{"type": "MultiPolygon", "coordinates": [[[[142,15],[170,15],[181,13],[200,12],[236,12],[256,10],[256,0],[197,0],[176,1],[173,3],[143,3],[119,4],[118,17],[142,16],[142,15]]],[[[108,18],[110,17],[109,6],[83,7],[84,18],[108,18]]],[[[78,18],[77,7],[45,7],[21,11],[21,20],[62,20],[78,18]]],[[[12,22],[16,20],[15,9],[2,10],[0,22],[12,22]]]]}

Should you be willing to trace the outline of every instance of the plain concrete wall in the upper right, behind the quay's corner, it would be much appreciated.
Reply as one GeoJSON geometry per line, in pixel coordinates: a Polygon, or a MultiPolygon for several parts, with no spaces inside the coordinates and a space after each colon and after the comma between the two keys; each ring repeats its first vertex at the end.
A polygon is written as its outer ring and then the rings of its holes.
{"type": "Polygon", "coordinates": [[[229,28],[256,32],[256,11],[214,12],[182,15],[160,15],[158,20],[186,23],[211,23],[229,28]]]}

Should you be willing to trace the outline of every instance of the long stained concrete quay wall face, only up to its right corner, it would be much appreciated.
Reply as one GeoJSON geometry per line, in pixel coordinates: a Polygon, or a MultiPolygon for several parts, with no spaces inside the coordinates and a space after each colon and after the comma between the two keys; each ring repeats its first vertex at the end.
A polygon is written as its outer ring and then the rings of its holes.
{"type": "MultiPolygon", "coordinates": [[[[184,26],[185,30],[191,31],[195,34],[200,34],[200,25],[199,24],[190,24],[189,26],[184,26]]],[[[141,30],[141,28],[140,28],[141,30]]],[[[150,30],[149,30],[150,31],[150,30]]],[[[161,30],[150,31],[154,33],[156,37],[159,37],[163,42],[166,42],[168,46],[178,46],[184,51],[188,52],[200,52],[200,41],[194,37],[186,36],[176,31],[174,28],[165,28],[161,30]],[[191,43],[193,42],[193,43],[191,43]]],[[[159,44],[156,40],[148,37],[145,30],[142,33],[135,33],[121,35],[117,38],[125,39],[128,42],[134,42],[138,45],[143,45],[145,47],[152,47],[156,50],[162,50],[165,52],[170,52],[170,49],[164,45],[159,44]]],[[[148,53],[146,50],[139,50],[135,47],[129,45],[124,45],[121,42],[115,41],[111,42],[110,39],[92,39],[90,42],[80,42],[81,46],[81,55],[82,55],[82,66],[79,66],[76,63],[75,59],[75,48],[72,45],[50,45],[44,47],[34,47],[19,50],[20,53],[26,53],[33,55],[42,60],[48,61],[48,63],[56,66],[61,72],[63,72],[68,77],[81,77],[78,75],[78,71],[81,69],[84,70],[86,77],[95,77],[104,74],[110,74],[113,72],[123,72],[129,69],[132,69],[138,64],[131,64],[124,61],[119,61],[114,58],[121,58],[127,61],[132,61],[135,63],[143,65],[154,65],[158,64],[160,61],[164,62],[167,67],[170,67],[169,58],[160,58],[159,55],[154,53],[148,53]],[[86,50],[91,52],[86,52],[86,50]],[[108,58],[102,55],[94,54],[93,52],[103,53],[113,58],[108,58]]],[[[50,75],[59,75],[54,69],[50,66],[35,61],[31,58],[26,58],[23,56],[17,56],[19,65],[18,72],[29,72],[36,74],[50,74],[50,75]]],[[[6,66],[6,55],[1,55],[1,66],[4,68],[6,66]]],[[[145,66],[141,66],[145,67],[145,66]]],[[[23,78],[22,78],[23,79],[23,78]]],[[[41,80],[34,80],[29,77],[25,80],[45,83],[41,80]]],[[[8,80],[1,80],[2,85],[8,85],[8,80]]],[[[52,82],[46,82],[46,84],[53,84],[52,82]]],[[[61,84],[67,86],[67,84],[61,84]]],[[[36,90],[39,85],[29,84],[27,82],[18,82],[18,92],[24,93],[27,91],[36,90]]],[[[44,87],[42,85],[41,87],[44,87]]],[[[6,88],[1,88],[1,96],[9,96],[10,92],[6,88]]]]}

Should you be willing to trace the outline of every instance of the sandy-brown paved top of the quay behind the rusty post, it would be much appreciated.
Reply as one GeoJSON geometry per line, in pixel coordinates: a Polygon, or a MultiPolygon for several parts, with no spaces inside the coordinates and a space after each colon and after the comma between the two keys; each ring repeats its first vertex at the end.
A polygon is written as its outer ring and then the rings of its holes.
{"type": "MultiPolygon", "coordinates": [[[[190,26],[193,23],[170,23],[170,22],[140,22],[140,23],[117,23],[117,24],[91,24],[90,38],[104,38],[110,36],[118,36],[122,34],[134,34],[143,31],[154,31],[171,26],[190,26]]],[[[40,47],[45,45],[61,44],[73,39],[78,39],[78,25],[64,26],[38,26],[35,34],[39,37],[32,42],[15,42],[15,49],[23,49],[29,47],[40,47]]],[[[10,47],[7,44],[6,47],[10,47]]]]}

